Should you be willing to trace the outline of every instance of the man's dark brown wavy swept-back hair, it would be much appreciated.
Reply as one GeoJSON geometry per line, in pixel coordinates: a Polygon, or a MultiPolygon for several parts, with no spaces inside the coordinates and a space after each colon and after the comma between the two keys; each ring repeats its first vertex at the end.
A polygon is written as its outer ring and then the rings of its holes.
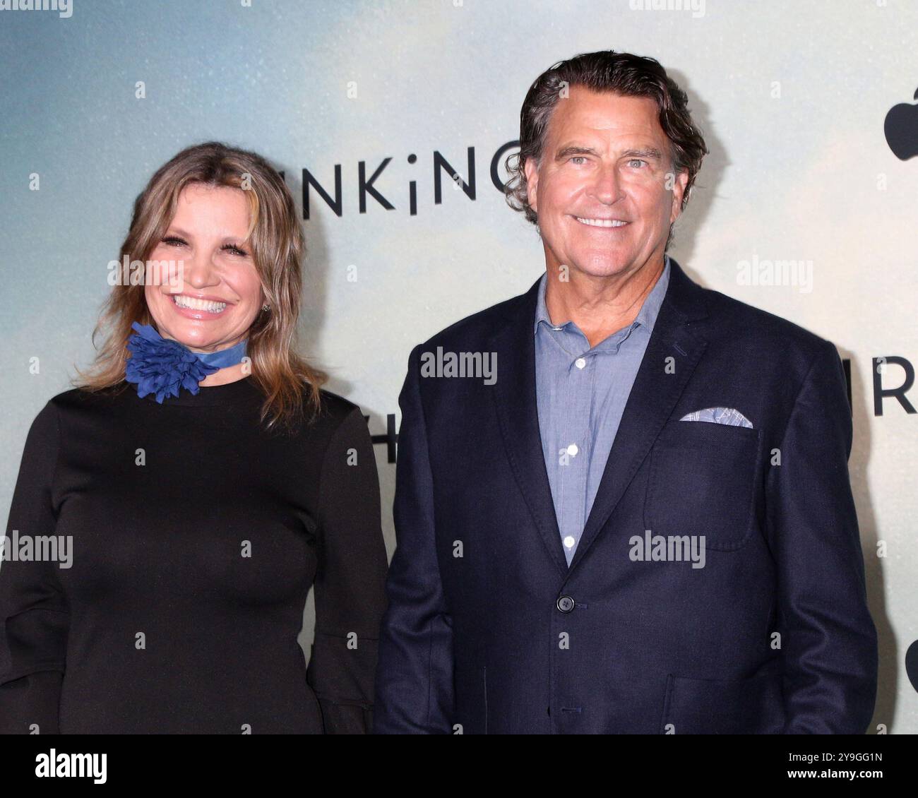
{"type": "MultiPolygon", "coordinates": [[[[565,89],[584,86],[595,92],[611,92],[622,96],[650,97],[660,109],[660,127],[672,148],[673,172],[689,173],[689,182],[682,197],[682,208],[689,203],[689,194],[701,168],[708,148],[701,132],[689,114],[689,98],[678,84],[666,75],[660,62],[630,52],[604,50],[585,52],[561,61],[535,79],[523,100],[520,111],[520,152],[514,152],[505,163],[509,180],[504,194],[510,208],[521,210],[526,219],[538,224],[538,214],[526,197],[526,174],[523,167],[531,158],[542,159],[548,120],[565,89]]],[[[672,227],[669,230],[672,239],[672,227]]],[[[666,241],[669,246],[669,240],[666,241]]]]}

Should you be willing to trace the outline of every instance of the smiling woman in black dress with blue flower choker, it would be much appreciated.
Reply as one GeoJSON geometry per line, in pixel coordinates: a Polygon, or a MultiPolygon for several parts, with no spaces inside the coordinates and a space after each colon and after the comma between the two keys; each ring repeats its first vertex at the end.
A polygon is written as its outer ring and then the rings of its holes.
{"type": "Polygon", "coordinates": [[[360,409],[293,348],[302,252],[252,152],[191,147],[138,197],[106,343],[28,434],[21,556],[0,568],[4,731],[368,731],[379,486],[360,409]],[[69,567],[28,557],[41,536],[72,542],[69,567]]]}

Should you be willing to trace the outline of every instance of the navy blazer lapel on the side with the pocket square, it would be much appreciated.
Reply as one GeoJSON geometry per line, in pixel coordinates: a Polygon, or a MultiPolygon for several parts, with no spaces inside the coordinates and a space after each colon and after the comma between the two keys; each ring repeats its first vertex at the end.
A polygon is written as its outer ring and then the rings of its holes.
{"type": "Polygon", "coordinates": [[[621,414],[619,430],[568,573],[577,568],[609,520],[676,407],[708,343],[689,325],[708,315],[704,289],[692,282],[672,258],[669,269],[666,297],[621,414]],[[672,360],[667,360],[670,357],[672,360]],[[666,368],[667,363],[671,368],[666,368]]]}

